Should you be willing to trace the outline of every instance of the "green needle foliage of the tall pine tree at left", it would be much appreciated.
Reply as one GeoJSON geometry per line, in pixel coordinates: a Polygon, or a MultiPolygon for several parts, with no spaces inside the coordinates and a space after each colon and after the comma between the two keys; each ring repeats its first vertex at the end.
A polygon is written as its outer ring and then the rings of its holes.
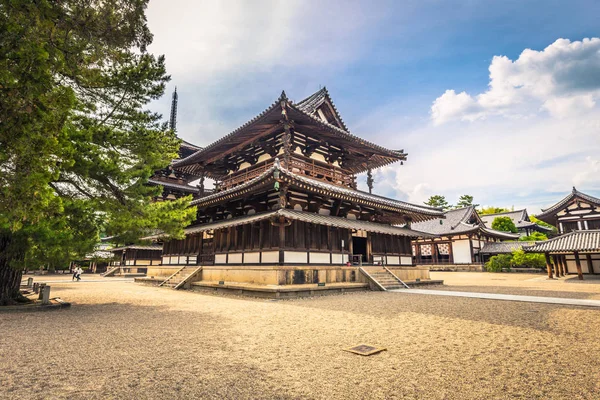
{"type": "Polygon", "coordinates": [[[0,272],[82,256],[99,230],[181,237],[193,220],[186,199],[151,204],[161,189],[145,184],[179,146],[145,109],[169,80],[146,51],[146,6],[0,0],[0,272]]]}

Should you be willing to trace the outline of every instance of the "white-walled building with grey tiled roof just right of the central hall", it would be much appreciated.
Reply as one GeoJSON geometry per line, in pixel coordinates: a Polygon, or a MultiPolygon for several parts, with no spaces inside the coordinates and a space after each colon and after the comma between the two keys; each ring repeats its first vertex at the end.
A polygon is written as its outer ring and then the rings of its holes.
{"type": "Polygon", "coordinates": [[[486,257],[481,250],[486,244],[519,238],[488,228],[473,206],[446,211],[444,218],[418,222],[412,228],[434,235],[412,243],[414,263],[432,270],[482,271],[486,257]]]}

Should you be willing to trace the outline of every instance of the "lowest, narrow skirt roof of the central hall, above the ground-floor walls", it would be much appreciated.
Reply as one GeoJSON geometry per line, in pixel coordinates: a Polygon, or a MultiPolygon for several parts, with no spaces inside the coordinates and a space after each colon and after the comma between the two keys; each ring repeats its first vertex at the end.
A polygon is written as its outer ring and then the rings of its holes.
{"type": "MultiPolygon", "coordinates": [[[[382,233],[386,235],[395,235],[395,236],[406,236],[411,238],[418,237],[432,237],[424,232],[418,232],[413,229],[401,228],[392,226],[389,224],[381,224],[370,221],[361,221],[361,220],[353,220],[343,217],[334,217],[330,215],[321,215],[315,214],[306,211],[297,211],[297,210],[288,210],[288,209],[280,209],[275,211],[268,211],[260,214],[253,215],[245,215],[243,217],[225,219],[221,221],[209,222],[206,224],[201,224],[197,226],[192,226],[185,229],[186,235],[191,235],[199,232],[206,232],[215,229],[224,229],[230,228],[239,225],[250,224],[253,222],[264,221],[270,218],[279,218],[284,217],[293,221],[302,221],[306,223],[316,224],[316,225],[325,225],[332,226],[341,229],[356,229],[366,232],[373,233],[382,233]]],[[[164,237],[164,234],[156,234],[152,236],[148,236],[144,239],[159,239],[164,237]]]]}

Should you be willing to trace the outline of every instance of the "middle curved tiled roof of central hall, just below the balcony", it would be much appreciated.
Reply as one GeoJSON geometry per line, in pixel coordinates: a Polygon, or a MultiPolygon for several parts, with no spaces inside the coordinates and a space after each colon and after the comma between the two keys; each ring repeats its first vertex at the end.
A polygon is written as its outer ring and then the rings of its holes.
{"type": "Polygon", "coordinates": [[[331,183],[326,183],[323,181],[318,181],[315,179],[308,178],[306,176],[298,175],[288,171],[287,169],[280,166],[279,161],[275,160],[275,163],[271,168],[260,174],[254,179],[251,179],[248,182],[245,182],[241,185],[234,186],[227,190],[214,193],[210,196],[201,197],[192,201],[192,205],[204,205],[211,204],[216,202],[217,200],[221,200],[223,198],[230,197],[235,194],[244,193],[247,189],[254,187],[256,185],[262,184],[263,181],[269,179],[269,177],[273,176],[273,172],[275,170],[279,170],[281,172],[281,178],[284,180],[289,180],[296,182],[298,185],[306,185],[307,188],[319,189],[324,191],[326,194],[333,197],[348,197],[357,200],[363,200],[365,202],[370,202],[373,204],[378,204],[381,206],[387,206],[393,209],[399,209],[405,212],[412,212],[415,214],[422,215],[421,219],[429,219],[431,217],[441,217],[443,218],[443,212],[439,208],[428,207],[428,206],[420,206],[416,204],[411,204],[407,202],[403,202],[400,200],[389,199],[387,197],[377,196],[374,194],[369,194],[360,190],[354,190],[350,188],[345,188],[341,186],[337,186],[331,183]]]}

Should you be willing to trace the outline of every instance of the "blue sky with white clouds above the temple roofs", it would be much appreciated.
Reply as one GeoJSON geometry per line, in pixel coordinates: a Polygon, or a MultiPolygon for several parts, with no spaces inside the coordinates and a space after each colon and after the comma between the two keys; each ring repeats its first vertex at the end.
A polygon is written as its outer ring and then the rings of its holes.
{"type": "Polygon", "coordinates": [[[354,134],[409,153],[376,192],[535,213],[573,185],[600,195],[600,43],[583,42],[598,15],[598,1],[152,0],[150,49],[172,75],[153,108],[166,118],[177,85],[178,133],[206,145],[282,89],[326,85],[354,134]]]}

